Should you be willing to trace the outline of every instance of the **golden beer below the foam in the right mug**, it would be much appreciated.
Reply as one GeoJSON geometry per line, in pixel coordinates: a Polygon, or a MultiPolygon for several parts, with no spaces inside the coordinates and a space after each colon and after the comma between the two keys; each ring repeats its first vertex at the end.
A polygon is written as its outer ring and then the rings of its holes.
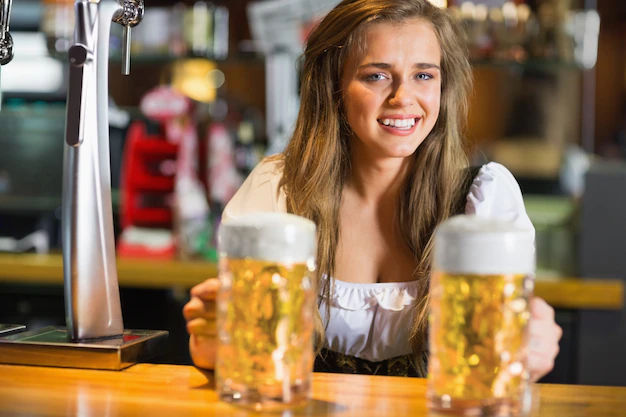
{"type": "Polygon", "coordinates": [[[431,281],[431,393],[468,407],[513,408],[528,378],[529,278],[436,272],[431,281]],[[448,397],[446,397],[448,396],[448,397]]]}

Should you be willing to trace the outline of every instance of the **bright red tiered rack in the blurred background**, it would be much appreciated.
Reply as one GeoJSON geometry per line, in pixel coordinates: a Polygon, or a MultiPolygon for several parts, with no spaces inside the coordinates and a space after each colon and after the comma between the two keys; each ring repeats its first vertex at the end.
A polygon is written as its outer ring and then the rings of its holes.
{"type": "Polygon", "coordinates": [[[121,177],[122,229],[130,226],[171,228],[170,207],[145,207],[141,201],[146,194],[174,192],[174,173],[164,175],[158,167],[175,161],[177,153],[178,145],[169,143],[164,136],[148,134],[143,122],[135,121],[130,125],[121,177]]]}

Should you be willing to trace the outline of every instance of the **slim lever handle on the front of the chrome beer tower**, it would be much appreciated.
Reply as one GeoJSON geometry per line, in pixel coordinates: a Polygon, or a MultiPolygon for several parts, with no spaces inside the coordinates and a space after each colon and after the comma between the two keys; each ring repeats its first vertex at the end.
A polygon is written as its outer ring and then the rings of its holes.
{"type": "Polygon", "coordinates": [[[65,140],[70,146],[78,146],[85,138],[85,105],[90,87],[85,85],[85,66],[93,61],[93,53],[85,45],[77,43],[70,47],[67,54],[70,61],[70,82],[65,140]]]}

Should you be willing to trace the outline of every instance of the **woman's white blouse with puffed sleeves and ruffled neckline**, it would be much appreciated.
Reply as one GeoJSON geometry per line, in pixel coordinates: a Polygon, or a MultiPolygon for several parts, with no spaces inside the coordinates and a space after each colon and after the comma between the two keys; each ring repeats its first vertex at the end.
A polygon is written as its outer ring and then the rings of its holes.
{"type": "MultiPolygon", "coordinates": [[[[222,217],[287,211],[285,194],[278,187],[281,175],[278,161],[261,162],[228,203],[222,217]]],[[[509,170],[495,162],[484,165],[474,178],[465,213],[511,221],[534,233],[517,181],[509,170]]],[[[333,291],[329,317],[326,303],[320,306],[322,319],[328,322],[328,349],[369,361],[411,353],[409,334],[419,293],[417,281],[359,284],[330,279],[333,291]]]]}

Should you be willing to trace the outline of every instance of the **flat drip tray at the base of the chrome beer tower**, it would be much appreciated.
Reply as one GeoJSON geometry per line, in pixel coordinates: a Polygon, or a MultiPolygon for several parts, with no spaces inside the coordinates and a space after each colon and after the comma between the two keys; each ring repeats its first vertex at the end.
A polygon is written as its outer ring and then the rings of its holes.
{"type": "Polygon", "coordinates": [[[121,370],[165,353],[167,331],[125,330],[123,336],[72,342],[64,327],[0,337],[0,363],[121,370]]]}

